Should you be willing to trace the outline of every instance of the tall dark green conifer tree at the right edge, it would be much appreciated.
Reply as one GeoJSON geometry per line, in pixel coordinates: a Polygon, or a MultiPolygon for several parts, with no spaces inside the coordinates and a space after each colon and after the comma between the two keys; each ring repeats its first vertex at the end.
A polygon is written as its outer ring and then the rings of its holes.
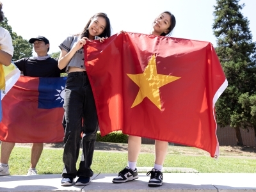
{"type": "Polygon", "coordinates": [[[243,7],[239,0],[217,0],[212,25],[216,53],[228,80],[216,103],[216,120],[221,127],[236,129],[237,145],[243,145],[239,127],[256,129],[256,47],[249,21],[241,13],[243,7]]]}

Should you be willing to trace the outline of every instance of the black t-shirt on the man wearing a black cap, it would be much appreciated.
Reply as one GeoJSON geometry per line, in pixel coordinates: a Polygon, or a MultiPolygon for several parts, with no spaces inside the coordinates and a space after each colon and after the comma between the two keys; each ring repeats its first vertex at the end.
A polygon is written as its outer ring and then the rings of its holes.
{"type": "Polygon", "coordinates": [[[58,68],[58,59],[47,58],[46,60],[36,60],[35,58],[22,58],[13,62],[24,76],[30,77],[60,77],[65,73],[65,69],[58,68]]]}

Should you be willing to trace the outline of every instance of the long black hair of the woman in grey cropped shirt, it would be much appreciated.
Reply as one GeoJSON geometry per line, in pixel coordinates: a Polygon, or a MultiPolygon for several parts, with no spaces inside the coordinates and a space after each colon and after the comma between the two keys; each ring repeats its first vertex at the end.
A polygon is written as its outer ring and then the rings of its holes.
{"type": "Polygon", "coordinates": [[[83,37],[87,37],[89,38],[89,31],[88,31],[88,27],[90,26],[92,19],[95,17],[102,17],[106,20],[106,28],[104,29],[104,31],[99,35],[99,37],[106,37],[106,36],[110,36],[111,35],[111,26],[110,26],[110,21],[109,18],[107,16],[106,13],[96,13],[95,15],[93,15],[90,20],[88,21],[88,23],[86,24],[86,26],[84,27],[83,31],[79,34],[81,35],[81,38],[83,37]]]}

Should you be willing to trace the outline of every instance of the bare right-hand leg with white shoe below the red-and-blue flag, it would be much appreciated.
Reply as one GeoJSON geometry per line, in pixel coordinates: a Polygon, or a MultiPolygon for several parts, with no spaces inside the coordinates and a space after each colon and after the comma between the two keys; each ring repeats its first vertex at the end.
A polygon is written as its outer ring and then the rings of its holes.
{"type": "Polygon", "coordinates": [[[44,148],[44,143],[33,143],[31,148],[31,161],[30,168],[27,175],[37,175],[36,164],[38,163],[40,156],[44,148]]]}

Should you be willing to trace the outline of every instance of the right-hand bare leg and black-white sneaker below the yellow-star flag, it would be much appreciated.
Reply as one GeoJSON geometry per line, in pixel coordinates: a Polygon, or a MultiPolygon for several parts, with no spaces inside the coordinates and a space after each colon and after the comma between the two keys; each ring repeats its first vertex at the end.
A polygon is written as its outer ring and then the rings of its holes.
{"type": "Polygon", "coordinates": [[[161,172],[164,164],[164,159],[167,155],[168,142],[166,141],[155,141],[156,159],[154,168],[147,175],[150,175],[148,186],[156,187],[163,185],[163,173],[161,172]]]}

